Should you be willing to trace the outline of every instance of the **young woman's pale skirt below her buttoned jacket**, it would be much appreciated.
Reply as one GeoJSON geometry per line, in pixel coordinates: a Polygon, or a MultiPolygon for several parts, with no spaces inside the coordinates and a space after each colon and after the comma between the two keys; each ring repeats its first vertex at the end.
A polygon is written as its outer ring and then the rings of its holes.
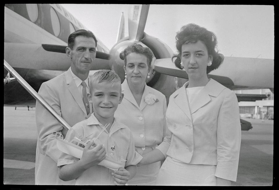
{"type": "Polygon", "coordinates": [[[216,166],[185,164],[167,157],[162,164],[155,185],[216,186],[216,166]]]}

